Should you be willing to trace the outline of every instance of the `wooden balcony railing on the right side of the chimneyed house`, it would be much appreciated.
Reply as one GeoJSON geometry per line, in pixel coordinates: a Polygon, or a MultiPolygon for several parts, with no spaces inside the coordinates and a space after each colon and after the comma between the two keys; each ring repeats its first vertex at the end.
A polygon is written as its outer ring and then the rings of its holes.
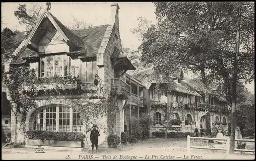
{"type": "Polygon", "coordinates": [[[140,101],[143,103],[144,97],[132,93],[132,91],[130,90],[131,86],[122,81],[122,79],[120,78],[111,79],[111,89],[117,92],[121,92],[121,90],[124,90],[129,93],[129,99],[131,99],[132,101],[140,101]]]}

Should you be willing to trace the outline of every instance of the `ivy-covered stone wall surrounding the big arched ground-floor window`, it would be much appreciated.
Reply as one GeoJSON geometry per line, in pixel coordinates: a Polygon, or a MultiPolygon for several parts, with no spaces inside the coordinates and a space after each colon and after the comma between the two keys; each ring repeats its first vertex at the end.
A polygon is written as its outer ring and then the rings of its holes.
{"type": "MultiPolygon", "coordinates": [[[[57,95],[61,95],[61,93],[55,92],[55,95],[53,94],[49,99],[34,99],[38,98],[38,91],[36,90],[38,78],[34,69],[29,69],[29,65],[10,66],[9,74],[4,77],[4,83],[8,88],[8,96],[12,103],[12,142],[24,142],[24,131],[29,129],[31,113],[45,104],[62,104],[74,107],[85,123],[85,133],[91,129],[93,123],[98,124],[103,133],[108,133],[106,132],[106,121],[103,123],[97,123],[97,121],[113,118],[110,115],[115,113],[112,112],[115,111],[115,107],[112,105],[110,97],[108,99],[98,99],[98,97],[93,99],[58,99],[57,95]],[[24,83],[31,87],[29,95],[28,92],[23,91],[24,83]]],[[[65,83],[60,82],[60,84],[65,83]]],[[[44,92],[41,92],[40,96],[49,96],[49,92],[52,94],[54,90],[59,89],[43,90],[44,92]]],[[[86,91],[87,89],[77,88],[75,89],[76,94],[79,94],[82,90],[86,91]]]]}

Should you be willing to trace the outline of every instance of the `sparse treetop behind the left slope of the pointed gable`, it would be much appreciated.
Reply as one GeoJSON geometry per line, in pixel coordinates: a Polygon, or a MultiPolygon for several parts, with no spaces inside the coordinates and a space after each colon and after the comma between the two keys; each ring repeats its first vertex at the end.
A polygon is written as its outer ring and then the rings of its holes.
{"type": "Polygon", "coordinates": [[[19,5],[18,10],[14,12],[14,15],[17,17],[19,24],[26,26],[27,34],[29,34],[43,12],[43,7],[39,4],[33,4],[29,9],[29,12],[27,12],[26,5],[19,5]]]}

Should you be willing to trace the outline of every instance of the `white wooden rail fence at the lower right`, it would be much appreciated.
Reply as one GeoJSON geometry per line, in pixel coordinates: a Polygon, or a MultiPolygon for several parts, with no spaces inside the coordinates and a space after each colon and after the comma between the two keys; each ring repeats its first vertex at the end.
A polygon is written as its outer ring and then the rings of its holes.
{"type": "MultiPolygon", "coordinates": [[[[235,142],[255,142],[253,139],[235,139],[235,142]]],[[[187,135],[187,152],[190,152],[190,149],[208,149],[208,150],[223,150],[226,151],[226,154],[229,154],[229,146],[230,146],[230,138],[212,138],[212,137],[190,137],[187,135]],[[200,146],[190,146],[190,139],[197,139],[197,140],[221,140],[226,141],[225,148],[210,148],[210,147],[200,147],[200,146]]],[[[241,151],[241,152],[255,152],[254,150],[248,150],[248,149],[234,149],[234,151],[241,151]]]]}

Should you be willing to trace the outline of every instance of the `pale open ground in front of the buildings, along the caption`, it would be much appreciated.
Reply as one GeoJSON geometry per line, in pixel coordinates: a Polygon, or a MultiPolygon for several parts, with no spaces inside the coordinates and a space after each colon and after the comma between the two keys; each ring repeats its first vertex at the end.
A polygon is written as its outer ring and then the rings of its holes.
{"type": "Polygon", "coordinates": [[[115,156],[116,159],[254,159],[254,154],[226,156],[224,151],[212,150],[191,150],[188,154],[186,138],[150,138],[117,149],[99,147],[98,154],[92,154],[89,149],[80,152],[46,149],[45,153],[35,153],[32,148],[2,149],[2,159],[114,159],[115,156]]]}

